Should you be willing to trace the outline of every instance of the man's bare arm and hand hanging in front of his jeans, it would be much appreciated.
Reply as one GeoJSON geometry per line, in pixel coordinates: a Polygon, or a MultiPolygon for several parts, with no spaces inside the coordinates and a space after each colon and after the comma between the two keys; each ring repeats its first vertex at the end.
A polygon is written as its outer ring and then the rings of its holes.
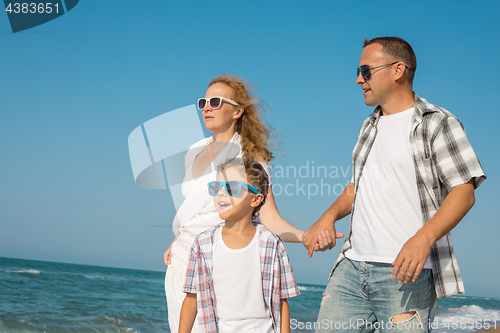
{"type": "Polygon", "coordinates": [[[436,214],[399,251],[392,263],[392,277],[398,282],[416,281],[432,246],[464,218],[475,202],[473,180],[452,188],[436,214]],[[406,276],[405,276],[406,275],[406,276]]]}

